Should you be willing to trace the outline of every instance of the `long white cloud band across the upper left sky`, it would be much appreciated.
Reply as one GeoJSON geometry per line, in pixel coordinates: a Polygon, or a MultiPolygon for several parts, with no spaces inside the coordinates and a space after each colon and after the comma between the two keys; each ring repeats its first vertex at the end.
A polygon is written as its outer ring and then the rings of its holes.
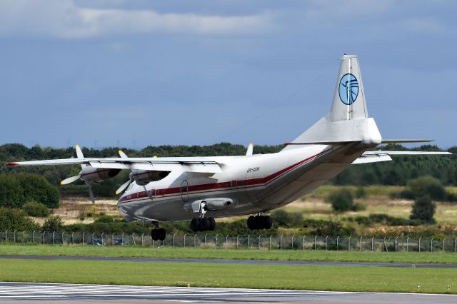
{"type": "Polygon", "coordinates": [[[0,36],[89,38],[119,34],[261,34],[267,12],[246,16],[159,14],[153,10],[88,9],[72,0],[0,0],[0,36]]]}

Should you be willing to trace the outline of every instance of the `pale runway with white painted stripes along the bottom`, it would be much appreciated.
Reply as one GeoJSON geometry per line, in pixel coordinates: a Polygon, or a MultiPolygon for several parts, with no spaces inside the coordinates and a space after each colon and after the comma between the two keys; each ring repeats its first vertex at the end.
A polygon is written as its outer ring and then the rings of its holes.
{"type": "Polygon", "coordinates": [[[456,303],[457,295],[0,282],[1,303],[456,303]]]}

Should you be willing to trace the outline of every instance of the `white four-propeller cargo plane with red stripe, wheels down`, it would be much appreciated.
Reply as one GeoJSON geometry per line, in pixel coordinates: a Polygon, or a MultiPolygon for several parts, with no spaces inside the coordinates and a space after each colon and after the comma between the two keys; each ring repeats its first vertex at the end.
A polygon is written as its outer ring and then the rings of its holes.
{"type": "Polygon", "coordinates": [[[278,153],[244,156],[77,158],[21,161],[9,166],[80,164],[82,171],[62,181],[81,179],[89,185],[105,181],[121,170],[131,171],[117,208],[126,221],[154,224],[151,237],[164,240],[160,221],[191,220],[194,231],[214,230],[214,218],[249,216],[251,230],[271,228],[268,211],[313,191],[353,164],[391,161],[391,156],[447,155],[447,152],[368,151],[381,143],[426,142],[383,140],[368,117],[358,57],[344,55],[330,112],[278,153]]]}

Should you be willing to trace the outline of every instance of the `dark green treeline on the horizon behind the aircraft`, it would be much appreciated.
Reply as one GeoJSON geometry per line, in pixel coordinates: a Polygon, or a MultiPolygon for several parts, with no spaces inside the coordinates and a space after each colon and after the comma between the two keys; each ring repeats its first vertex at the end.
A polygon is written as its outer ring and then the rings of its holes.
{"type": "MultiPolygon", "coordinates": [[[[283,145],[254,146],[254,153],[274,153],[281,151],[283,145]]],[[[387,145],[378,149],[396,151],[443,151],[437,146],[425,145],[417,148],[405,148],[401,145],[387,145]]],[[[83,148],[87,157],[117,157],[118,147],[83,148]]],[[[147,146],[139,151],[129,148],[122,150],[131,157],[152,156],[234,156],[246,153],[246,147],[231,143],[217,143],[211,146],[147,146]]],[[[447,151],[457,153],[457,146],[447,151]]],[[[71,158],[75,156],[74,148],[41,148],[36,145],[28,148],[19,143],[9,143],[0,146],[0,174],[17,175],[19,173],[33,173],[44,176],[49,183],[59,186],[64,178],[79,173],[79,166],[27,166],[8,168],[5,164],[9,161],[31,161],[52,158],[71,158]]],[[[127,172],[109,181],[94,186],[97,196],[115,196],[114,192],[126,181],[127,172]]],[[[354,165],[333,178],[330,183],[341,186],[366,186],[366,185],[393,185],[405,186],[408,180],[419,176],[433,176],[443,185],[457,185],[457,155],[453,156],[418,156],[394,158],[393,161],[383,163],[368,163],[354,165]]],[[[59,186],[60,187],[60,186],[59,186]]],[[[60,188],[61,195],[86,195],[86,186],[71,184],[60,188]]]]}

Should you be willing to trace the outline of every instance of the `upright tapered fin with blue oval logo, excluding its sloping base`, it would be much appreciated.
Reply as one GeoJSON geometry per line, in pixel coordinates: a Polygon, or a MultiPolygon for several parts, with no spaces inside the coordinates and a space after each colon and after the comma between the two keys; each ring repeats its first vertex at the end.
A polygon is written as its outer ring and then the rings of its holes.
{"type": "Polygon", "coordinates": [[[368,118],[358,57],[343,55],[328,121],[368,118]]]}

